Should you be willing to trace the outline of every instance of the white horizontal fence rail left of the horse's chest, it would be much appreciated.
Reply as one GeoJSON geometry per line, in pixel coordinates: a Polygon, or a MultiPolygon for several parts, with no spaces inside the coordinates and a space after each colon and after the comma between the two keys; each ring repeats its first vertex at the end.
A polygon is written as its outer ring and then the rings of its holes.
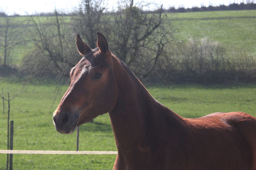
{"type": "Polygon", "coordinates": [[[7,154],[116,155],[117,151],[0,150],[7,154]]]}

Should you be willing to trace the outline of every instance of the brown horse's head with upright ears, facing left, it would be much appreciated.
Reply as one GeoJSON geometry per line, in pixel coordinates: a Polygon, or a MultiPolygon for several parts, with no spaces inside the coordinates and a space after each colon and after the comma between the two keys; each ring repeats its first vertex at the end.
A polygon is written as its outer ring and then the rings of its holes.
{"type": "Polygon", "coordinates": [[[59,133],[73,133],[77,126],[108,113],[115,105],[117,90],[108,41],[97,32],[97,47],[91,49],[79,34],[76,47],[83,57],[70,71],[70,87],[53,113],[59,133]]]}

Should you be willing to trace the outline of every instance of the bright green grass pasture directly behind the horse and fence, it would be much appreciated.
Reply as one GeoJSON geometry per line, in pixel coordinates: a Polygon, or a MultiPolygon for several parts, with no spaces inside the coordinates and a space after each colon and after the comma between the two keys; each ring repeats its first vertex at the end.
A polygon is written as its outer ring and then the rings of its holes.
{"type": "MultiPolygon", "coordinates": [[[[7,83],[0,77],[0,93],[9,86],[11,96],[22,88],[20,83],[7,83]]],[[[54,103],[55,84],[28,85],[26,91],[11,102],[14,120],[15,150],[76,150],[76,133],[57,133],[52,113],[67,89],[62,88],[54,103]],[[51,107],[52,106],[52,107],[51,107]]],[[[154,85],[149,92],[168,108],[185,117],[199,117],[213,112],[244,111],[256,116],[256,85],[154,85]]],[[[5,105],[7,107],[7,105],[5,105]]],[[[6,149],[7,114],[2,113],[0,100],[0,149],[6,149]]],[[[7,110],[6,110],[7,112],[7,110]]],[[[80,127],[79,150],[116,150],[108,114],[80,127]]],[[[110,170],[115,155],[14,155],[18,170],[110,170]]],[[[6,167],[6,154],[0,154],[0,170],[6,167]]]]}

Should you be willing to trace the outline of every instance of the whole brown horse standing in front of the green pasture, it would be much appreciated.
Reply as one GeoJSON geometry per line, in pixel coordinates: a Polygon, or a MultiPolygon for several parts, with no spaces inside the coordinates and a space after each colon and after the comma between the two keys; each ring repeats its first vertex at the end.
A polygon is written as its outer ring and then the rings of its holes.
{"type": "Polygon", "coordinates": [[[118,150],[114,170],[256,170],[256,118],[242,112],[177,115],[148,93],[97,34],[95,49],[76,37],[83,57],[53,113],[59,133],[109,113],[118,150]]]}

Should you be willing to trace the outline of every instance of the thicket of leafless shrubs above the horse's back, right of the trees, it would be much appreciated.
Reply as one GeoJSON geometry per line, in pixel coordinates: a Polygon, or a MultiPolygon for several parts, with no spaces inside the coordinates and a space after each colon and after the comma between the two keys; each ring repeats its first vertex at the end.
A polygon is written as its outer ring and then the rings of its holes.
{"type": "Polygon", "coordinates": [[[228,53],[207,38],[172,44],[148,81],[221,83],[256,80],[256,60],[246,51],[228,53]]]}

